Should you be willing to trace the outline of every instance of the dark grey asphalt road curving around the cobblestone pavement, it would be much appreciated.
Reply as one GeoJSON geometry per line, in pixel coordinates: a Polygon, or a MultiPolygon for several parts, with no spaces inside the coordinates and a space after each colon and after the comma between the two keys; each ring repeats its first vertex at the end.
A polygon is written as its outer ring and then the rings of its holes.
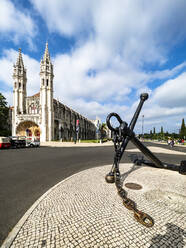
{"type": "MultiPolygon", "coordinates": [[[[146,143],[146,145],[153,145],[146,143]]],[[[165,145],[156,146],[168,148],[165,145]]],[[[131,143],[127,149],[135,148],[131,143]]],[[[186,148],[168,148],[186,152],[186,148]]],[[[129,152],[121,162],[131,162],[129,152]]],[[[112,164],[113,147],[27,148],[0,151],[0,245],[31,205],[52,186],[96,166],[112,164]]],[[[186,156],[156,154],[178,164],[186,156]]],[[[177,172],[175,172],[177,173],[177,172]]],[[[90,175],[91,176],[91,175],[90,175]]],[[[104,176],[104,175],[103,175],[104,176]]]]}

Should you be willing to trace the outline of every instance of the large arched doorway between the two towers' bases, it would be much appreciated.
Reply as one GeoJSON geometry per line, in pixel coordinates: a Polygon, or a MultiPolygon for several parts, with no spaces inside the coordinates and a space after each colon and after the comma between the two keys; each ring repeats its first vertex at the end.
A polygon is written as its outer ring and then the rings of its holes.
{"type": "Polygon", "coordinates": [[[23,121],[16,128],[16,135],[40,139],[40,128],[33,121],[23,121]]]}

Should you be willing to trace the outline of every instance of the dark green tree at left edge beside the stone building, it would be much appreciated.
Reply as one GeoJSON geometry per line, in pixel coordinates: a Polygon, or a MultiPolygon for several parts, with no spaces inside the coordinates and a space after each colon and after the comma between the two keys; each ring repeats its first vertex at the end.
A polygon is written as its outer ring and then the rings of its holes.
{"type": "Polygon", "coordinates": [[[0,136],[10,134],[8,127],[9,108],[7,107],[6,98],[0,93],[0,136]]]}

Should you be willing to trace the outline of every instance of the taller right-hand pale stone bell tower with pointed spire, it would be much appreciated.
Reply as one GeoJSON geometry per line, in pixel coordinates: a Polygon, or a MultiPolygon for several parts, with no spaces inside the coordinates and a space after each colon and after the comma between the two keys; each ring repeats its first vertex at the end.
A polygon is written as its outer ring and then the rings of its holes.
{"type": "Polygon", "coordinates": [[[54,138],[53,78],[53,65],[47,42],[40,63],[41,141],[51,141],[54,138]]]}

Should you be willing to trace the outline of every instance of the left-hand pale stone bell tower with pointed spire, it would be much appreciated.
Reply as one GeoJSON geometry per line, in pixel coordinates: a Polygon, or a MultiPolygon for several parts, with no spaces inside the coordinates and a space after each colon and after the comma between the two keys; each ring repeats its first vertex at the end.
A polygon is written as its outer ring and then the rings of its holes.
{"type": "Polygon", "coordinates": [[[12,125],[12,134],[16,135],[15,126],[17,122],[17,116],[20,114],[26,113],[26,69],[23,64],[23,58],[21,54],[21,49],[19,49],[19,55],[16,61],[16,64],[13,66],[13,80],[14,80],[14,86],[13,86],[13,122],[14,125],[12,125]]]}

